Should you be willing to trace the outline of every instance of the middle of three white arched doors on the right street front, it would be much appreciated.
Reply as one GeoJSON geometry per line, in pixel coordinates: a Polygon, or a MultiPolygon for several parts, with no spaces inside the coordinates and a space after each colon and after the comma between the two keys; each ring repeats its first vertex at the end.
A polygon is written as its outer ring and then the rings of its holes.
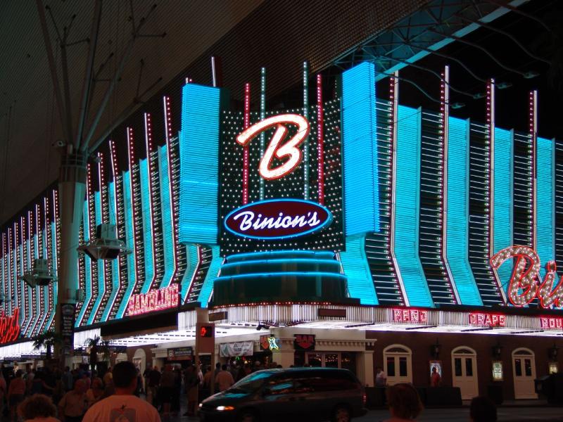
{"type": "Polygon", "coordinates": [[[477,353],[471,347],[460,346],[452,350],[452,384],[460,388],[464,400],[479,395],[477,353]]]}

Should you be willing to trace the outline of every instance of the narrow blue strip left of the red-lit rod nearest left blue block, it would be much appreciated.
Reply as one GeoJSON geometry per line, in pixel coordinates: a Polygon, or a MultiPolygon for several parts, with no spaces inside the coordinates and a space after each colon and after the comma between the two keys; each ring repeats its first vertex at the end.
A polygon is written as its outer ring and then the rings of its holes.
{"type": "Polygon", "coordinates": [[[163,219],[164,276],[160,288],[170,286],[174,276],[174,237],[172,235],[172,210],[170,210],[170,180],[166,146],[158,148],[158,173],[160,174],[160,210],[163,219]]]}

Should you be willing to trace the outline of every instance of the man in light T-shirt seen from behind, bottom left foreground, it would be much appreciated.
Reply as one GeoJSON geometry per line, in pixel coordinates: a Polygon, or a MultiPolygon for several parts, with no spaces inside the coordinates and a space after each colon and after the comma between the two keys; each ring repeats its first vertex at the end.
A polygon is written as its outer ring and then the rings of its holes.
{"type": "Polygon", "coordinates": [[[120,362],[113,368],[115,395],[92,406],[82,422],[160,422],[158,411],[135,397],[137,368],[131,362],[120,362]]]}

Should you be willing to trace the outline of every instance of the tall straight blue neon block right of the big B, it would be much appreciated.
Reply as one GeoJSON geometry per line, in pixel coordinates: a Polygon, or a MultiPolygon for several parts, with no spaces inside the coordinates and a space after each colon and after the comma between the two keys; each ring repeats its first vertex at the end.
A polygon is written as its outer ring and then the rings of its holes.
{"type": "Polygon", "coordinates": [[[375,68],[342,74],[344,223],[346,236],[379,231],[375,68]]]}

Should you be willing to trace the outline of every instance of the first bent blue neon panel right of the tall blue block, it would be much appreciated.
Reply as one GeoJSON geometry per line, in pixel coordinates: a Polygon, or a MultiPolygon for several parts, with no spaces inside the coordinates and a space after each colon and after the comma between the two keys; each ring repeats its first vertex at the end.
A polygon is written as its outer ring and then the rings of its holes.
{"type": "Polygon", "coordinates": [[[421,110],[399,106],[395,181],[395,256],[411,306],[433,307],[419,250],[421,110]]]}

